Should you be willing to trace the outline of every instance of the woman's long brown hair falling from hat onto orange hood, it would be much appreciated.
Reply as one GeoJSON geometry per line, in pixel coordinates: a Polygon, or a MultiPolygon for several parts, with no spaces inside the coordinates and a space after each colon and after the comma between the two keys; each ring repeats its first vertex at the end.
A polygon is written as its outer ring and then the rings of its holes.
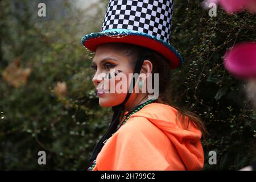
{"type": "MultiPolygon", "coordinates": [[[[139,53],[142,50],[141,46],[135,44],[126,44],[126,43],[109,43],[114,46],[118,51],[123,52],[124,55],[129,56],[131,59],[132,67],[135,67],[135,63],[138,60],[139,53]]],[[[159,97],[157,102],[170,105],[177,109],[177,119],[179,122],[183,123],[185,129],[188,129],[188,126],[185,126],[185,117],[188,117],[188,121],[201,131],[204,140],[209,135],[207,129],[204,126],[203,121],[199,117],[199,115],[192,113],[191,111],[181,109],[181,107],[177,107],[173,104],[171,100],[171,69],[170,63],[167,61],[162,55],[158,52],[155,52],[151,49],[148,49],[147,55],[149,55],[148,60],[151,61],[153,68],[152,73],[159,74],[159,97]],[[180,119],[181,118],[181,119],[180,119]]],[[[154,74],[152,74],[154,76],[154,74]]],[[[154,78],[152,78],[154,79],[154,78]]],[[[153,85],[154,86],[154,85],[153,85]]]]}

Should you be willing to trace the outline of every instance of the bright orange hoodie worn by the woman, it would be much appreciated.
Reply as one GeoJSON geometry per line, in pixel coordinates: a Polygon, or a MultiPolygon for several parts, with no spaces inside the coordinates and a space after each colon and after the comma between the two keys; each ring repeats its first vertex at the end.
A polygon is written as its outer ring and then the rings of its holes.
{"type": "Polygon", "coordinates": [[[174,107],[151,103],[131,115],[106,141],[93,171],[200,170],[204,165],[200,139],[199,129],[189,124],[185,130],[177,121],[174,107]]]}

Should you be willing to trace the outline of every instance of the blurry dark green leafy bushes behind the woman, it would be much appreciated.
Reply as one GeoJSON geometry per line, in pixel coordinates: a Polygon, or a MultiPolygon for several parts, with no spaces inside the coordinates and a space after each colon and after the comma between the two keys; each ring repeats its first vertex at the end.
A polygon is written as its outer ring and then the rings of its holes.
{"type": "MultiPolygon", "coordinates": [[[[36,3],[0,1],[0,73],[19,56],[22,67],[32,69],[19,88],[0,76],[0,169],[86,170],[112,117],[111,108],[98,106],[89,68],[93,55],[80,43],[100,31],[108,1],[86,10],[63,1],[59,16],[47,2],[51,11],[39,18],[36,3]],[[66,82],[67,96],[54,93],[58,81],[66,82]],[[40,150],[47,165],[38,165],[40,150]]],[[[200,3],[175,1],[171,44],[186,63],[173,72],[170,94],[207,126],[204,169],[240,169],[256,157],[256,114],[244,83],[225,71],[222,59],[235,43],[256,40],[256,17],[218,8],[210,18],[200,3]],[[208,164],[211,150],[216,165],[208,164]]]]}

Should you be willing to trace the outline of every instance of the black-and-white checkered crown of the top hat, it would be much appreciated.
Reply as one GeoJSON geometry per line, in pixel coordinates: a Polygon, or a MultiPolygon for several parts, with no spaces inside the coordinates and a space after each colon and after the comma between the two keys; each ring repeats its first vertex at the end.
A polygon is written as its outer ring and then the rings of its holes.
{"type": "Polygon", "coordinates": [[[173,0],[110,0],[101,31],[124,28],[170,40],[173,0]]]}

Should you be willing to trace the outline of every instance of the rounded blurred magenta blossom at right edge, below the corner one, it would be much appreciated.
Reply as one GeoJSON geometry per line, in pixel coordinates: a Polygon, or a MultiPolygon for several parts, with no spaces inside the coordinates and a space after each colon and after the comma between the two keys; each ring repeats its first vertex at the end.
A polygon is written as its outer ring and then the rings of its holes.
{"type": "Polygon", "coordinates": [[[240,43],[226,52],[224,66],[240,78],[256,78],[256,43],[240,43]]]}

